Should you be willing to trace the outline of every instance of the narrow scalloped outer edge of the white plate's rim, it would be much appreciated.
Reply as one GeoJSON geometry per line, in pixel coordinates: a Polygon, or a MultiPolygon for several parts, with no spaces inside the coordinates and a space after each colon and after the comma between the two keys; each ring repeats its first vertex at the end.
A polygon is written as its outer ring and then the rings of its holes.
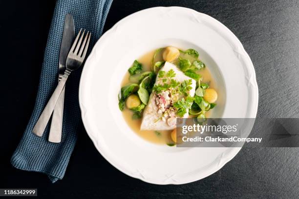
{"type": "MultiPolygon", "coordinates": [[[[230,30],[228,29],[224,24],[222,24],[220,21],[214,19],[213,17],[207,15],[207,14],[204,14],[204,13],[201,13],[201,12],[198,12],[196,10],[193,10],[191,8],[186,8],[186,7],[180,7],[180,6],[170,6],[170,7],[162,7],[162,6],[159,6],[159,7],[151,7],[151,8],[147,8],[147,9],[143,9],[143,10],[140,10],[140,11],[137,11],[135,13],[132,13],[130,15],[128,15],[127,17],[119,20],[117,23],[115,23],[109,30],[107,30],[100,38],[99,40],[97,40],[97,42],[95,43],[91,53],[89,54],[88,58],[86,59],[85,63],[89,63],[89,60],[91,60],[92,57],[94,57],[94,54],[95,54],[95,49],[96,49],[96,46],[99,45],[98,43],[101,42],[101,40],[104,40],[109,34],[113,33],[113,31],[115,31],[117,29],[117,26],[122,23],[124,20],[128,20],[128,18],[131,18],[135,15],[138,15],[139,13],[141,12],[146,12],[146,11],[149,11],[149,10],[155,10],[155,9],[167,9],[167,10],[171,10],[171,9],[181,9],[182,12],[190,12],[192,14],[196,14],[196,15],[203,15],[207,18],[209,18],[210,20],[214,20],[215,23],[217,23],[217,25],[219,26],[222,26],[222,28],[225,28],[225,30],[231,35],[231,39],[233,39],[233,42],[234,44],[236,44],[237,47],[239,47],[239,51],[242,52],[242,55],[244,56],[244,61],[245,63],[247,63],[247,65],[250,67],[250,70],[252,71],[252,76],[250,77],[250,82],[252,83],[252,89],[255,91],[253,91],[252,93],[256,94],[256,95],[253,95],[251,98],[252,98],[252,101],[256,101],[256,104],[253,105],[253,110],[251,112],[251,115],[254,115],[254,117],[256,117],[256,114],[257,114],[257,107],[258,107],[258,86],[257,86],[257,82],[256,82],[256,72],[255,72],[255,68],[254,68],[254,65],[252,63],[252,60],[250,59],[248,53],[245,51],[242,43],[240,42],[240,40],[238,40],[238,38],[235,36],[235,34],[230,30]],[[255,98],[255,99],[254,99],[255,98]]],[[[229,43],[231,43],[231,40],[228,41],[229,43]]],[[[244,64],[243,64],[244,65],[244,64]]],[[[244,66],[243,66],[244,67],[244,66]]],[[[248,68],[248,67],[247,67],[248,68]]],[[[249,68],[248,68],[249,69],[249,68]]],[[[241,150],[242,147],[235,147],[235,148],[232,148],[232,150],[227,150],[227,151],[224,151],[222,153],[222,155],[225,153],[225,159],[221,159],[221,163],[219,163],[216,167],[212,168],[212,169],[209,169],[208,172],[205,173],[205,175],[202,175],[200,178],[194,178],[194,179],[191,179],[191,180],[186,180],[186,181],[179,181],[179,182],[175,182],[175,181],[171,181],[171,183],[169,181],[152,181],[152,180],[149,180],[149,179],[146,179],[146,178],[142,178],[142,177],[139,177],[138,175],[133,175],[132,173],[130,172],[127,172],[125,171],[126,169],[125,168],[122,168],[121,166],[119,166],[116,162],[112,162],[112,159],[109,159],[107,157],[107,154],[103,153],[102,149],[98,146],[97,144],[97,141],[93,138],[93,136],[88,133],[88,131],[91,131],[89,128],[88,125],[86,125],[86,121],[85,121],[85,110],[84,110],[84,107],[83,107],[83,102],[82,102],[82,81],[83,81],[83,78],[84,77],[84,74],[86,73],[86,67],[83,67],[83,70],[82,70],[82,74],[81,74],[81,78],[80,78],[80,85],[79,85],[79,105],[80,105],[80,109],[81,109],[81,117],[82,117],[82,122],[84,124],[84,127],[85,127],[85,130],[86,130],[86,133],[88,135],[88,137],[92,140],[94,146],[96,147],[96,149],[99,151],[99,153],[112,165],[114,166],[116,169],[120,170],[121,172],[123,172],[124,174],[132,177],[132,178],[136,178],[136,179],[140,179],[142,181],[145,181],[145,182],[148,182],[148,183],[152,183],[152,184],[160,184],[160,185],[165,185],[165,184],[185,184],[185,183],[190,183],[190,182],[193,182],[193,181],[197,181],[199,179],[204,179],[212,174],[214,174],[216,171],[220,170],[227,162],[229,162],[230,160],[232,160],[236,154],[241,150]]],[[[222,156],[223,158],[223,156],[222,156]]],[[[194,175],[195,176],[195,175],[194,175]]]]}

